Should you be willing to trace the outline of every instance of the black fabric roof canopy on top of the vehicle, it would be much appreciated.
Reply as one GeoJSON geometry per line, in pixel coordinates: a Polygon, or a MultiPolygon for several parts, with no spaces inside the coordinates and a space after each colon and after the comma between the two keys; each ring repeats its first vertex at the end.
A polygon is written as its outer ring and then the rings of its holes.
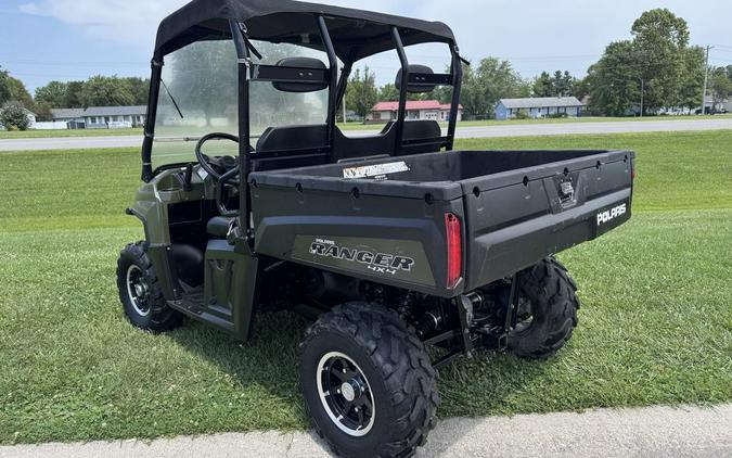
{"type": "Polygon", "coordinates": [[[201,39],[224,38],[230,20],[244,23],[252,39],[322,49],[319,15],[326,18],[336,54],[344,62],[394,49],[395,26],[404,46],[454,42],[450,27],[440,22],[293,0],[193,0],[163,20],[155,54],[162,56],[201,39]]]}

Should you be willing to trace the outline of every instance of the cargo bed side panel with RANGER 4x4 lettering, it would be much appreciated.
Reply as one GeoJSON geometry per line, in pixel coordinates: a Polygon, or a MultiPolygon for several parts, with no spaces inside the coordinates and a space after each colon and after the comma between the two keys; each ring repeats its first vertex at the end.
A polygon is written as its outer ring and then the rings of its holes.
{"type": "Polygon", "coordinates": [[[452,297],[445,213],[463,201],[253,188],[255,251],[335,273],[452,297]]]}

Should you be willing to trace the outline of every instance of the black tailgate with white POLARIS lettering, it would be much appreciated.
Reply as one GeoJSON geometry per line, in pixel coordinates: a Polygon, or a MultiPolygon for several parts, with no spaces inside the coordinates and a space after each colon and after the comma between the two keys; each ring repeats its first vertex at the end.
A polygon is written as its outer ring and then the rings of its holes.
{"type": "Polygon", "coordinates": [[[622,225],[631,216],[634,154],[614,151],[461,182],[466,289],[622,225]]]}

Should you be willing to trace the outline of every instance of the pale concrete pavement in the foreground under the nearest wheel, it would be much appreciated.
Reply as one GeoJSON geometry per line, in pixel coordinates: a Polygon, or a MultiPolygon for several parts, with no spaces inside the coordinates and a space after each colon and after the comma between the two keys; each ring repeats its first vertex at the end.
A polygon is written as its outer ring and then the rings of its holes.
{"type": "MultiPolygon", "coordinates": [[[[178,437],[0,447],[0,458],[330,457],[311,433],[178,437]]],[[[732,405],[652,407],[438,423],[418,457],[732,457],[732,405]]]]}

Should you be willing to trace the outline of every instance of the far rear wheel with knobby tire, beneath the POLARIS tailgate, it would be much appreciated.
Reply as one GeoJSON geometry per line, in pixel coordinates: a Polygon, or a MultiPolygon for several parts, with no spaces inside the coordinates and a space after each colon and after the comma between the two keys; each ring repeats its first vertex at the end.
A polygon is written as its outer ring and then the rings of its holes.
{"type": "Polygon", "coordinates": [[[521,273],[518,320],[509,347],[524,358],[545,358],[562,348],[577,327],[577,285],[567,269],[549,257],[521,273]]]}

